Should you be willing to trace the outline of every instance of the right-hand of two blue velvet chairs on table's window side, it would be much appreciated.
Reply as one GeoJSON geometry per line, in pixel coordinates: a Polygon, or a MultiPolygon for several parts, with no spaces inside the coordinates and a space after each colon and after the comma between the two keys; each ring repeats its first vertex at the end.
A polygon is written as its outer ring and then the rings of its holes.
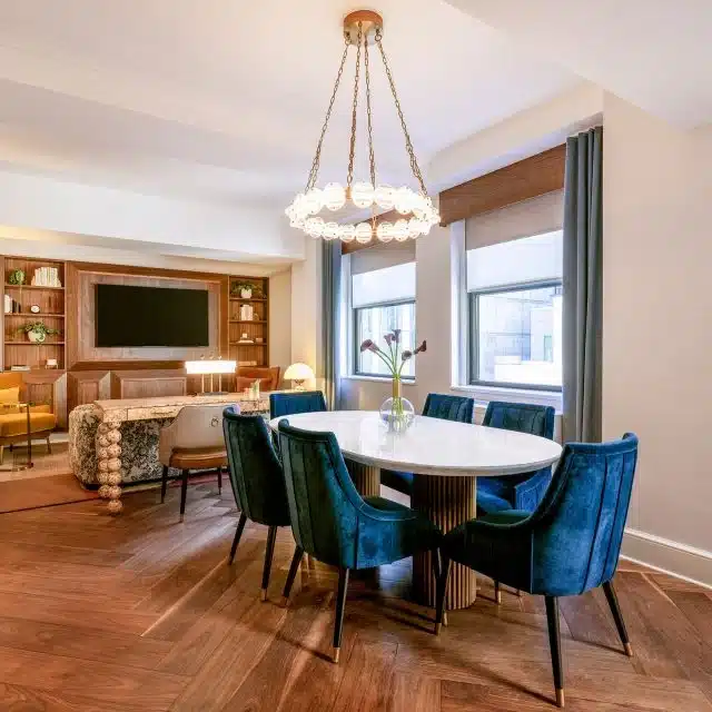
{"type": "MultiPolygon", "coordinates": [[[[554,408],[528,403],[491,400],[482,424],[553,439],[554,408]]],[[[479,477],[477,511],[479,514],[492,514],[503,510],[533,512],[542,501],[551,478],[551,467],[521,475],[479,477]]]]}

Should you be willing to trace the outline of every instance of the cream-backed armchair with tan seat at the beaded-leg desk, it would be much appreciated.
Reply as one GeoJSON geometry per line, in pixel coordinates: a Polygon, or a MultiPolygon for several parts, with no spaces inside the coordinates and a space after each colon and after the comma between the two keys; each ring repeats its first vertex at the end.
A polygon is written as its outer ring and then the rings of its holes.
{"type": "Polygon", "coordinates": [[[180,409],[170,425],[164,427],[158,438],[158,459],[164,466],[160,501],[166,500],[169,468],[180,469],[180,521],[186,513],[188,475],[195,469],[217,469],[218,491],[222,491],[222,467],[227,466],[227,453],[222,438],[222,409],[220,405],[190,405],[180,409]]]}

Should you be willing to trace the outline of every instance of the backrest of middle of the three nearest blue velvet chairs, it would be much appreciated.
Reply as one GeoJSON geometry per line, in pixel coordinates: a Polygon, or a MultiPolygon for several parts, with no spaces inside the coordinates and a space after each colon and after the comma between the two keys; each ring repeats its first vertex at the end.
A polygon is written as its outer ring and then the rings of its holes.
{"type": "Polygon", "coordinates": [[[279,452],[295,541],[333,566],[354,566],[364,501],[348,475],[334,433],[279,423],[279,452]]]}

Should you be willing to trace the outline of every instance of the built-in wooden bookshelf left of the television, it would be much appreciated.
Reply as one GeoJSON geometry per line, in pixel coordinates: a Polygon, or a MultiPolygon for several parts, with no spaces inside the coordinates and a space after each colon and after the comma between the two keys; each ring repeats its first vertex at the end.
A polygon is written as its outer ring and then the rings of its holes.
{"type": "Polygon", "coordinates": [[[2,258],[2,367],[63,368],[66,340],[65,263],[29,257],[2,258]],[[56,334],[33,342],[23,330],[43,324],[56,334]]]}

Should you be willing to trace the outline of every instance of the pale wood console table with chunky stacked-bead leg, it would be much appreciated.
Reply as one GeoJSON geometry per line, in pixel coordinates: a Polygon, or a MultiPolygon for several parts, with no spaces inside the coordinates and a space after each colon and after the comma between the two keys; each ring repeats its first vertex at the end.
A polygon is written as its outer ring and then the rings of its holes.
{"type": "Polygon", "coordinates": [[[121,423],[127,421],[152,421],[175,418],[184,406],[239,403],[243,413],[269,413],[269,394],[254,399],[243,393],[225,393],[197,396],[166,396],[157,398],[123,398],[95,400],[100,409],[97,428],[97,479],[99,495],[108,500],[111,514],[123,508],[121,503],[121,423]]]}

